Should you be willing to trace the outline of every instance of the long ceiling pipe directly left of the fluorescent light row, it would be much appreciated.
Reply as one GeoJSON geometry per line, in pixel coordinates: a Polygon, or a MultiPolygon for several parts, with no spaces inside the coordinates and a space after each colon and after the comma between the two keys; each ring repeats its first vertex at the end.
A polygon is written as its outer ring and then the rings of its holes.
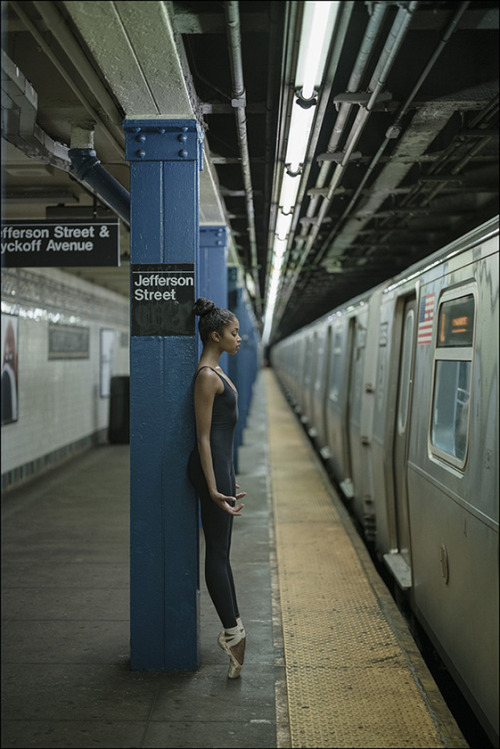
{"type": "Polygon", "coordinates": [[[236,117],[236,128],[238,134],[238,145],[241,155],[241,168],[243,171],[243,182],[245,186],[245,200],[248,216],[248,234],[250,238],[250,262],[252,277],[256,288],[255,304],[259,315],[262,314],[262,294],[260,290],[258,261],[257,261],[257,237],[255,233],[255,209],[253,204],[252,175],[250,170],[250,153],[248,150],[247,120],[246,120],[246,91],[243,79],[243,61],[241,54],[241,30],[240,14],[237,2],[224,3],[226,14],[229,57],[232,76],[232,99],[236,117]]]}

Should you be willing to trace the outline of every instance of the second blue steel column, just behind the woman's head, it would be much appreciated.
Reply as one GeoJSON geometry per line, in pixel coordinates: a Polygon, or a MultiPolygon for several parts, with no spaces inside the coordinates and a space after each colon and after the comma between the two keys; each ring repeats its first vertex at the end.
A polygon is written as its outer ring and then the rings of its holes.
{"type": "MultiPolygon", "coordinates": [[[[200,262],[198,266],[198,296],[212,299],[216,307],[228,308],[227,290],[227,228],[200,226],[200,262]]],[[[199,344],[201,346],[201,343],[199,344]]],[[[222,354],[220,365],[227,371],[227,354],[222,354]]]]}

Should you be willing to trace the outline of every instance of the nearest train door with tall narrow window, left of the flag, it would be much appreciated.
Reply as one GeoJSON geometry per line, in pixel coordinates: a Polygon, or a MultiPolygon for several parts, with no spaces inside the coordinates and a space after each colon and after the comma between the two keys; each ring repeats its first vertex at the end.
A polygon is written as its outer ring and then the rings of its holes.
{"type": "MultiPolygon", "coordinates": [[[[416,300],[408,298],[404,306],[401,327],[400,359],[397,384],[397,408],[394,423],[393,471],[394,501],[396,504],[397,548],[400,558],[411,570],[410,528],[408,517],[408,491],[406,467],[408,458],[408,437],[410,433],[410,403],[413,386],[413,352],[416,325],[416,300]]],[[[406,583],[408,584],[408,580],[406,583]]],[[[405,584],[403,587],[407,587],[405,584]]]]}

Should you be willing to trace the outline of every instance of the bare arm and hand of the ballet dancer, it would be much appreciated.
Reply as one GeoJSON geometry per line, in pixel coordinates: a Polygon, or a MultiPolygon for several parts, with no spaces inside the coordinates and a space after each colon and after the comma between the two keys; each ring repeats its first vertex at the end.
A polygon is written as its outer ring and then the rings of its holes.
{"type": "MultiPolygon", "coordinates": [[[[212,411],[215,396],[220,387],[224,387],[219,377],[210,369],[204,369],[196,378],[194,388],[194,410],[196,416],[196,435],[198,440],[198,452],[200,462],[205,476],[211,499],[230,515],[241,515],[242,504],[231,507],[229,501],[235,497],[227,497],[217,490],[214,466],[212,461],[212,450],[210,448],[210,429],[212,427],[212,411]]],[[[236,495],[241,499],[244,493],[236,495]]]]}

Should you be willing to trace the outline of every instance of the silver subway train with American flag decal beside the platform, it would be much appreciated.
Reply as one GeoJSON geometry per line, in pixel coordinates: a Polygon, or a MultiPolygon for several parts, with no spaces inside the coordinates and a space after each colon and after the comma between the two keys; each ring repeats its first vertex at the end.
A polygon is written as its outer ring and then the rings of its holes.
{"type": "Polygon", "coordinates": [[[496,217],[270,352],[398,597],[495,746],[498,307],[496,217]]]}

